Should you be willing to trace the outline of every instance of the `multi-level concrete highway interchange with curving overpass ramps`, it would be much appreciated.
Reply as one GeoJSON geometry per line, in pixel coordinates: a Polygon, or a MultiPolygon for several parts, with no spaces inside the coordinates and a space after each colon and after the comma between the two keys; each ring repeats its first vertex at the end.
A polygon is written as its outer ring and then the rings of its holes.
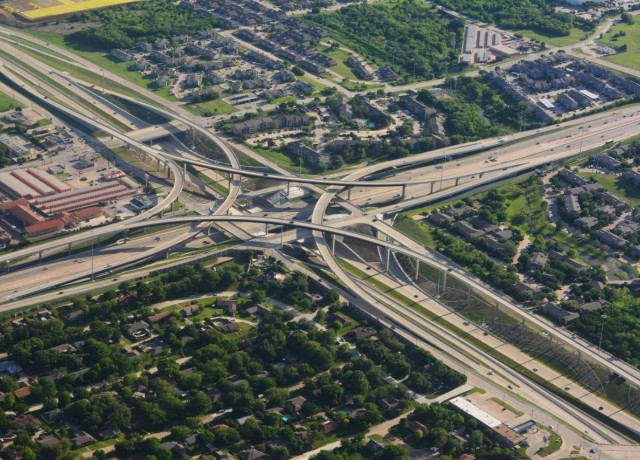
{"type": "MultiPolygon", "coordinates": [[[[45,65],[26,55],[20,55],[20,60],[29,62],[29,65],[38,68],[43,73],[48,73],[51,78],[57,79],[64,86],[69,87],[69,85],[71,85],[71,87],[77,90],[77,94],[82,94],[82,97],[90,101],[90,104],[100,105],[104,107],[105,110],[110,111],[117,109],[115,106],[109,106],[108,101],[101,98],[98,94],[79,87],[78,84],[81,82],[77,79],[48,69],[45,65]]],[[[360,280],[350,277],[338,264],[332,243],[335,236],[356,238],[377,244],[380,247],[389,248],[393,253],[406,254],[416,260],[437,267],[442,270],[443,273],[448,273],[448,276],[455,277],[472,286],[474,292],[482,293],[486,298],[494,300],[504,308],[511,309],[514,313],[524,317],[528,322],[530,321],[540,329],[552,334],[556,340],[571,342],[573,347],[580,349],[581,352],[595,362],[607,366],[619,375],[627,378],[629,382],[640,386],[640,373],[637,369],[632,368],[626,363],[610,360],[605,355],[600,356],[586,344],[573,341],[566,331],[553,328],[552,325],[545,320],[522,310],[510,299],[488,288],[460,268],[453,266],[438,253],[425,249],[415,241],[398,232],[389,225],[389,221],[385,220],[385,217],[389,217],[404,209],[443,200],[456,196],[464,191],[476,190],[479,187],[488,186],[499,180],[516,177],[547,164],[576,156],[583,151],[601,146],[606,140],[622,140],[636,136],[640,134],[640,115],[637,115],[637,107],[616,110],[614,113],[596,114],[581,120],[572,120],[562,123],[559,126],[549,126],[538,132],[529,131],[516,133],[511,137],[488,139],[472,144],[452,146],[437,151],[414,155],[409,158],[371,165],[359,168],[347,174],[346,177],[342,179],[313,179],[296,177],[276,165],[269,164],[269,162],[263,163],[266,163],[274,173],[258,173],[244,170],[234,150],[229,147],[224,139],[204,128],[197,119],[184,113],[176,104],[164,104],[164,107],[156,107],[145,102],[137,101],[137,103],[145,106],[147,109],[154,110],[167,119],[180,121],[216,142],[227,158],[228,163],[221,164],[212,162],[193,152],[188,152],[188,154],[180,156],[158,151],[155,148],[134,140],[117,127],[110,126],[106,120],[95,117],[86,107],[83,107],[76,101],[69,98],[64,100],[66,96],[61,94],[57,88],[52,87],[48,82],[40,80],[38,86],[32,86],[29,82],[33,81],[34,77],[37,78],[37,76],[30,74],[28,70],[21,68],[16,62],[2,59],[0,64],[0,73],[18,85],[24,85],[22,87],[23,91],[30,93],[32,98],[39,100],[46,106],[54,108],[59,113],[66,114],[68,117],[90,127],[93,131],[100,130],[107,133],[143,151],[159,162],[166,164],[171,171],[173,180],[173,187],[170,193],[153,209],[134,218],[111,224],[108,227],[95,229],[92,232],[72,234],[59,240],[30,246],[20,251],[7,254],[4,256],[6,266],[8,266],[9,261],[13,259],[33,257],[43,253],[49,255],[60,251],[60,248],[70,248],[74,244],[95,239],[98,236],[106,236],[119,232],[124,234],[136,228],[165,224],[182,224],[183,227],[178,228],[188,229],[187,231],[168,233],[168,238],[163,237],[159,242],[155,241],[155,239],[153,242],[149,241],[150,237],[135,243],[128,242],[125,244],[127,249],[129,248],[128,245],[139,245],[146,250],[142,252],[132,251],[128,257],[120,257],[119,260],[115,262],[94,266],[93,269],[90,269],[87,264],[76,263],[73,266],[73,270],[60,273],[62,276],[49,276],[57,272],[54,265],[56,262],[51,262],[52,268],[48,270],[47,273],[48,281],[39,284],[37,287],[24,286],[10,293],[0,291],[0,295],[3,296],[1,300],[6,302],[0,309],[9,310],[15,308],[17,301],[11,301],[12,299],[18,299],[36,292],[57,288],[58,286],[87,278],[91,275],[91,272],[100,273],[115,270],[120,266],[125,267],[131,265],[155,254],[165,253],[171,248],[184,243],[186,240],[195,238],[197,234],[210,223],[215,222],[225,231],[249,240],[248,243],[255,241],[260,245],[269,243],[277,245],[280,240],[295,240],[299,238],[300,233],[297,230],[289,230],[279,236],[268,235],[267,238],[257,239],[254,238],[255,235],[247,231],[246,227],[242,227],[242,224],[271,224],[273,226],[286,226],[286,228],[289,229],[295,228],[303,231],[311,231],[315,238],[317,250],[328,264],[330,270],[347,284],[350,292],[346,294],[350,295],[362,308],[377,312],[383,323],[402,325],[403,331],[400,332],[409,334],[416,340],[422,340],[428,337],[430,345],[436,345],[439,348],[437,352],[438,355],[442,356],[448,364],[454,365],[456,368],[467,369],[467,372],[470,374],[475,374],[474,378],[479,378],[485,383],[487,383],[487,378],[483,374],[482,369],[480,369],[480,371],[476,369],[478,363],[482,363],[483,366],[488,366],[491,369],[499,370],[502,376],[508,377],[508,380],[505,380],[504,377],[496,376],[491,379],[490,385],[497,385],[504,389],[507,381],[516,382],[520,397],[532,402],[535,401],[535,404],[538,405],[541,412],[547,414],[544,417],[550,417],[549,414],[553,414],[556,420],[562,420],[566,423],[567,428],[564,430],[566,434],[563,433],[563,436],[578,439],[576,432],[587,432],[588,436],[593,439],[596,444],[605,444],[598,447],[602,458],[638,458],[638,456],[640,456],[640,450],[638,450],[637,447],[625,446],[621,452],[620,446],[630,442],[625,436],[621,436],[615,430],[580,412],[569,403],[549,393],[539,385],[530,382],[527,378],[500,363],[495,358],[476,350],[448,329],[427,321],[406,305],[400,304],[387,295],[372,292],[371,286],[365,285],[360,280]],[[48,94],[59,94],[61,102],[53,100],[50,97],[45,97],[44,92],[41,92],[40,89],[46,89],[48,94]],[[490,158],[496,161],[491,161],[490,158]],[[206,166],[230,175],[231,187],[229,194],[224,201],[217,204],[215,209],[213,209],[212,215],[156,218],[169,203],[178,198],[183,190],[185,181],[188,180],[184,169],[176,162],[206,166]],[[393,171],[393,173],[379,179],[372,180],[369,178],[369,176],[381,173],[384,176],[385,171],[393,171]],[[319,198],[313,208],[311,221],[284,219],[283,216],[274,217],[240,214],[238,209],[234,207],[234,203],[242,193],[242,176],[264,177],[271,180],[278,180],[283,183],[283,187],[286,187],[284,184],[295,183],[300,187],[307,188],[311,193],[317,194],[319,198]],[[320,185],[329,186],[329,188],[325,189],[320,187],[320,185]],[[435,189],[433,186],[435,186],[435,189]],[[374,191],[372,192],[372,190],[374,191]],[[375,211],[366,212],[361,209],[363,206],[393,200],[394,198],[398,198],[400,194],[402,194],[405,199],[397,203],[394,202],[390,205],[381,206],[375,209],[375,211]],[[327,210],[332,206],[342,207],[344,215],[340,214],[338,218],[326,219],[327,210]],[[184,227],[184,224],[191,225],[184,227]],[[354,224],[366,224],[374,227],[378,231],[378,235],[385,235],[386,238],[379,239],[369,237],[346,229],[354,224]],[[330,237],[329,235],[334,236],[330,237]],[[387,239],[390,241],[387,241],[387,239]],[[147,248],[147,246],[149,247],[147,248]],[[473,360],[472,362],[469,362],[470,358],[473,360]],[[627,456],[625,457],[625,455],[627,456]]],[[[114,80],[117,78],[112,75],[108,77],[114,80]]],[[[148,99],[153,99],[151,97],[152,93],[148,93],[143,89],[136,89],[136,91],[144,94],[148,99]]],[[[125,96],[120,96],[126,98],[125,96]]],[[[166,103],[166,101],[162,102],[166,103]]],[[[131,117],[127,116],[126,113],[120,114],[119,119],[131,122],[132,125],[138,129],[144,129],[144,124],[137,123],[135,120],[132,122],[131,117]]],[[[121,248],[117,248],[117,250],[120,249],[121,248]]],[[[35,273],[36,271],[42,272],[43,269],[42,265],[37,265],[35,267],[18,267],[16,270],[18,271],[14,272],[13,269],[11,269],[8,275],[3,276],[25,276],[29,273],[35,273]]],[[[397,270],[398,268],[393,265],[391,272],[397,274],[397,270]]],[[[380,275],[390,276],[384,273],[380,275]]],[[[398,277],[400,276],[402,275],[398,274],[398,277]]],[[[416,288],[407,286],[404,289],[416,288]]],[[[415,292],[418,291],[416,290],[415,292]]],[[[55,293],[51,295],[55,295],[55,293]]],[[[424,295],[422,294],[422,296],[424,295]]],[[[437,307],[437,302],[434,299],[425,297],[422,299],[422,302],[424,302],[425,305],[433,306],[433,308],[437,307]]],[[[604,404],[597,395],[591,394],[589,397],[593,398],[593,404],[604,404]]],[[[613,409],[610,412],[612,418],[638,431],[637,419],[629,416],[625,412],[615,411],[613,409]]],[[[542,417],[543,415],[540,414],[540,416],[542,417]]],[[[581,442],[585,444],[589,441],[582,440],[581,442]]]]}

